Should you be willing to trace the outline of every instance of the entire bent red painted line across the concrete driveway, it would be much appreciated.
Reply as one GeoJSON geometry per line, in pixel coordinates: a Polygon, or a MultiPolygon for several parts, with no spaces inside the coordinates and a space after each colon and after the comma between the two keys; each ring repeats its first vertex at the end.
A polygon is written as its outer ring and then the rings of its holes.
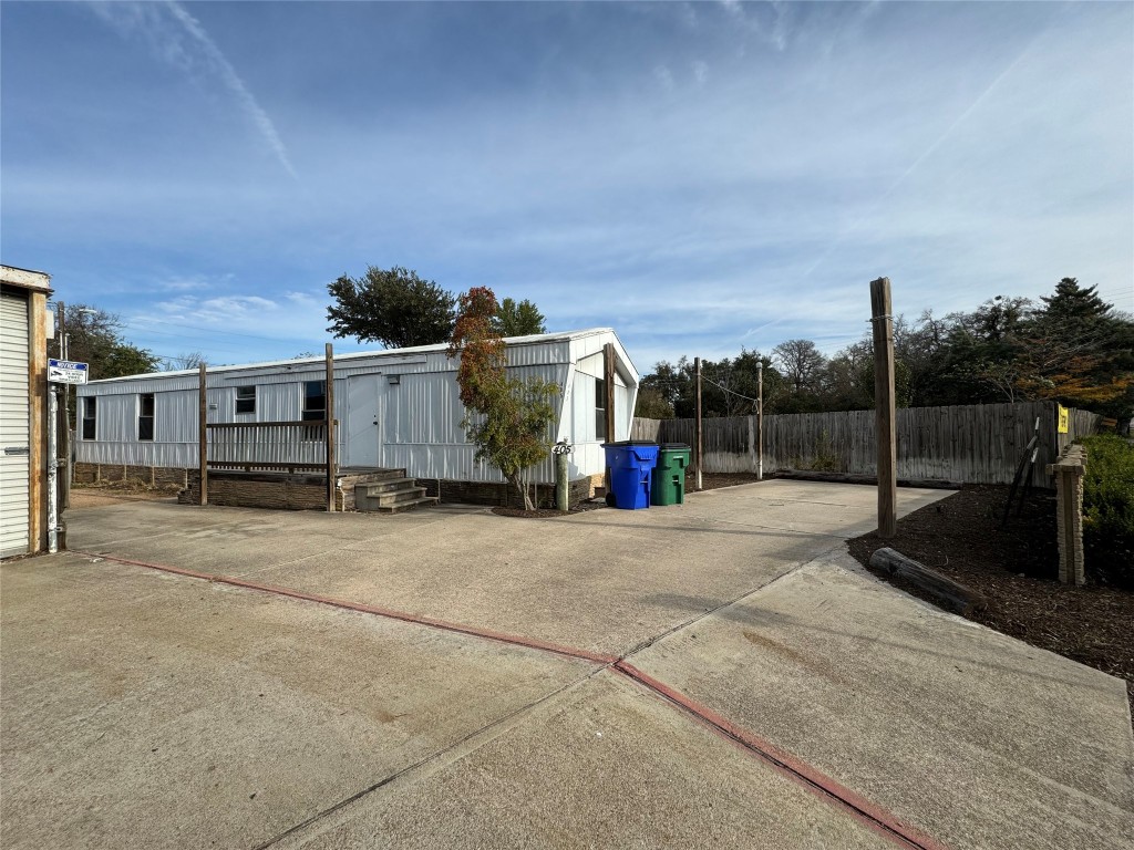
{"type": "Polygon", "coordinates": [[[595,664],[603,664],[616,670],[623,675],[638,682],[646,689],[658,694],[665,699],[678,705],[686,712],[697,717],[703,723],[708,724],[710,729],[723,734],[726,738],[743,746],[750,753],[755,754],[764,762],[769,763],[776,767],[780,773],[786,776],[799,782],[804,788],[812,791],[816,797],[823,799],[828,802],[838,805],[845,811],[850,814],[861,823],[865,824],[874,832],[890,839],[899,847],[913,848],[914,850],[948,850],[945,844],[936,841],[929,835],[915,830],[912,826],[903,824],[894,815],[886,811],[879,806],[870,802],[870,800],[855,793],[845,785],[839,784],[830,776],[816,771],[814,767],[801,762],[798,758],[789,753],[781,750],[776,745],[771,743],[763,738],[753,734],[737,725],[734,725],[725,717],[720,716],[713,712],[708,706],[701,705],[700,703],[689,699],[687,696],[678,690],[669,687],[665,682],[661,682],[646,673],[643,673],[637,668],[632,664],[627,664],[625,661],[620,661],[612,655],[602,655],[600,653],[592,653],[586,649],[575,649],[568,646],[560,646],[558,644],[552,644],[545,640],[538,640],[534,638],[526,638],[518,635],[507,635],[499,631],[491,631],[488,629],[477,629],[471,626],[462,626],[460,623],[451,623],[445,620],[434,620],[430,617],[418,617],[417,614],[411,614],[405,611],[396,611],[392,609],[379,607],[376,605],[364,605],[358,602],[350,602],[348,600],[337,600],[330,596],[320,596],[318,594],[304,593],[302,590],[294,590],[289,587],[277,587],[274,585],[263,585],[256,581],[245,581],[239,578],[229,578],[227,576],[217,576],[209,572],[198,572],[197,570],[187,570],[183,567],[171,567],[169,564],[162,563],[151,563],[149,561],[134,561],[128,558],[117,558],[112,555],[101,555],[93,552],[82,552],[78,550],[70,550],[73,553],[78,555],[84,555],[86,558],[100,558],[104,561],[111,561],[113,563],[125,563],[132,567],[145,567],[151,570],[159,570],[161,572],[170,572],[176,576],[185,576],[187,578],[197,578],[205,581],[212,581],[214,584],[229,585],[231,587],[242,587],[248,590],[259,590],[261,593],[276,594],[278,596],[287,596],[293,600],[303,600],[305,602],[314,602],[320,605],[329,605],[331,607],[342,609],[346,611],[357,611],[364,614],[375,614],[378,617],[384,617],[391,620],[400,620],[403,622],[414,623],[417,626],[428,626],[434,629],[441,629],[443,631],[451,631],[457,635],[468,635],[469,637],[484,638],[486,640],[494,640],[501,644],[509,644],[511,646],[521,646],[527,649],[540,649],[543,652],[553,653],[556,655],[562,655],[568,658],[576,658],[579,661],[590,661],[595,664]]]}

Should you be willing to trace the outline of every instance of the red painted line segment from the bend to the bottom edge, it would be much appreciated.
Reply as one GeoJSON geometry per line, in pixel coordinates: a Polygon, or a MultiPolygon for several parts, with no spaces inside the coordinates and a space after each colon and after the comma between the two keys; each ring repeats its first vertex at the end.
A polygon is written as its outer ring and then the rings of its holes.
{"type": "Polygon", "coordinates": [[[913,826],[902,823],[886,809],[875,806],[849,788],[836,782],[811,765],[801,762],[790,753],[786,753],[771,741],[730,723],[708,706],[689,699],[680,691],[643,673],[632,664],[619,661],[613,665],[613,670],[680,706],[704,721],[710,728],[741,743],[745,749],[751,750],[781,773],[802,782],[805,788],[816,793],[816,796],[840,805],[856,819],[900,847],[915,848],[916,850],[947,850],[945,844],[936,839],[913,826]]]}

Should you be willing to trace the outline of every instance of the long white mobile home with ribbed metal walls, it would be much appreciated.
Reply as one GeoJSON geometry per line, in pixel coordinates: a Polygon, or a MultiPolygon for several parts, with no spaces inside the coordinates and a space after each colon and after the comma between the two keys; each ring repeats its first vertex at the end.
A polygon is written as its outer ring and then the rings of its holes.
{"type": "MultiPolygon", "coordinates": [[[[509,375],[539,376],[560,388],[555,440],[567,439],[573,481],[601,475],[601,444],[629,439],[637,371],[607,328],[505,340],[509,375]],[[615,433],[606,428],[603,350],[611,345],[615,433]]],[[[502,482],[474,460],[465,439],[457,360],[445,343],[335,357],[335,411],[341,467],[404,468],[411,477],[502,482]]],[[[208,422],[322,419],[325,363],[304,358],[208,371],[208,422]]],[[[92,381],[79,388],[78,464],[195,469],[198,373],[163,372],[92,381]]],[[[549,459],[533,479],[555,479],[549,459]]]]}

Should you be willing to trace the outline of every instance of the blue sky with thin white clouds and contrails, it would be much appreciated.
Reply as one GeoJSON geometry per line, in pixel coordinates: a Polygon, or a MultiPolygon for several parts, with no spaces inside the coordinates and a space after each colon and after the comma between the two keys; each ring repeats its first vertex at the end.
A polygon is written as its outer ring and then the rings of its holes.
{"type": "MultiPolygon", "coordinates": [[[[404,265],[635,365],[1065,275],[1134,309],[1134,6],[5,2],[3,262],[166,356],[404,265]]],[[[352,351],[354,340],[335,340],[352,351]]]]}

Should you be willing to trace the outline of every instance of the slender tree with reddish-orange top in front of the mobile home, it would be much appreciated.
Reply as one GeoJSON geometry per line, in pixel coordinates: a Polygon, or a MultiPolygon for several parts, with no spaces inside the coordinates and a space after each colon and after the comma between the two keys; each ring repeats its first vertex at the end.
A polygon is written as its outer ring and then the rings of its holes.
{"type": "Polygon", "coordinates": [[[492,464],[532,510],[525,473],[548,457],[555,419],[553,383],[538,377],[508,377],[503,339],[494,330],[496,295],[474,287],[460,296],[460,309],[449,342],[449,357],[459,357],[457,385],[465,405],[462,427],[476,445],[476,459],[492,464]]]}

